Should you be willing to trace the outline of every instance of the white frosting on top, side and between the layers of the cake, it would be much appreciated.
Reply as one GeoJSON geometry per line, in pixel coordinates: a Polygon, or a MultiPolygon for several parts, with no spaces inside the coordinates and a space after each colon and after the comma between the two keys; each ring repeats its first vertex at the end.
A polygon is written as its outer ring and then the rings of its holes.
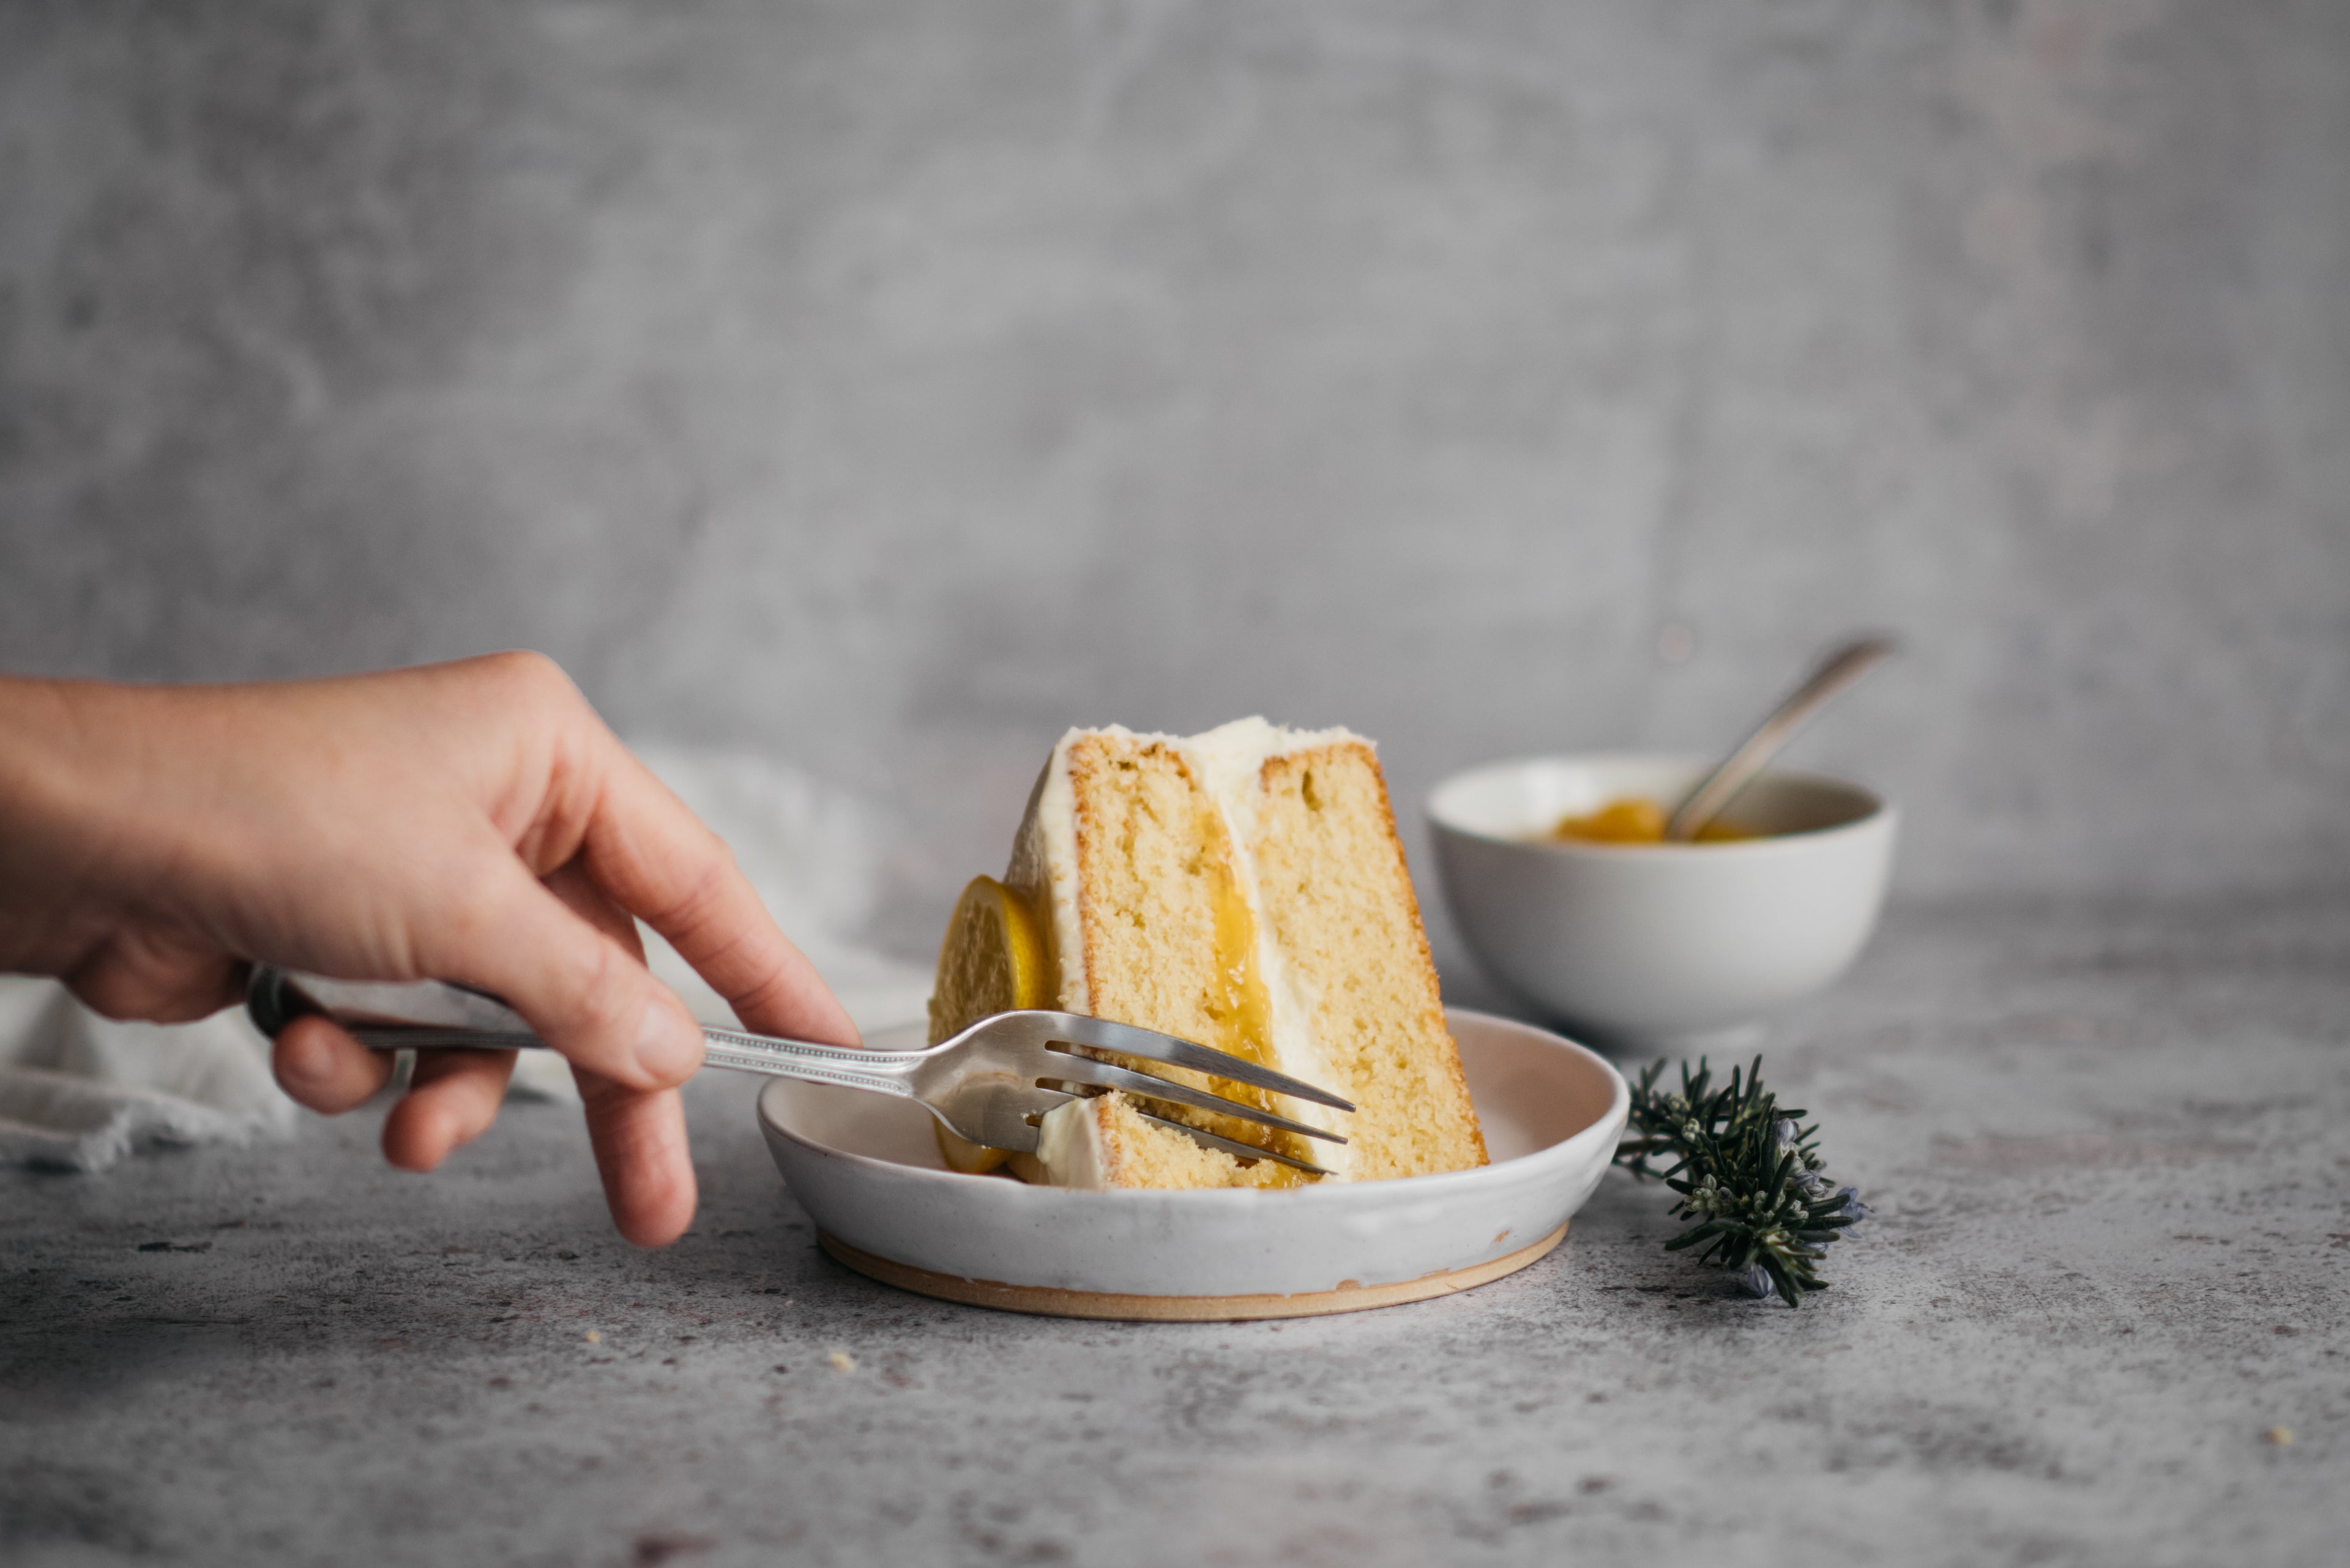
{"type": "MultiPolygon", "coordinates": [[[[1069,745],[1083,736],[1119,736],[1137,743],[1159,743],[1175,750],[1201,780],[1208,799],[1224,820],[1224,839],[1231,846],[1231,870],[1241,896],[1248,900],[1255,922],[1257,976],[1267,990],[1269,1044],[1276,1072],[1285,1072],[1309,1084],[1328,1084],[1330,1058],[1311,1027],[1314,997],[1304,994],[1300,978],[1290,971],[1271,931],[1264,926],[1264,900],[1257,896],[1257,858],[1253,851],[1260,818],[1264,764],[1290,752],[1323,745],[1356,743],[1370,745],[1349,729],[1297,731],[1269,724],[1262,717],[1234,719],[1201,736],[1135,733],[1123,726],[1072,729],[1053,748],[1043,778],[1029,799],[1027,818],[1013,846],[1015,884],[1034,886],[1050,903],[1053,950],[1060,966],[1060,1006],[1069,1013],[1090,1013],[1090,987],[1086,978],[1083,926],[1076,907],[1076,790],[1069,783],[1069,745]]],[[[1083,1103],[1062,1105],[1046,1114],[1039,1128],[1036,1159],[1055,1187],[1104,1187],[1107,1152],[1100,1143],[1100,1124],[1083,1114],[1083,1103]]],[[[1276,1095],[1276,1110],[1309,1126],[1344,1131],[1337,1126],[1340,1112],[1323,1105],[1307,1105],[1276,1095]]],[[[1316,1161],[1328,1166],[1337,1180],[1351,1175],[1349,1145],[1314,1145],[1316,1161]]]]}

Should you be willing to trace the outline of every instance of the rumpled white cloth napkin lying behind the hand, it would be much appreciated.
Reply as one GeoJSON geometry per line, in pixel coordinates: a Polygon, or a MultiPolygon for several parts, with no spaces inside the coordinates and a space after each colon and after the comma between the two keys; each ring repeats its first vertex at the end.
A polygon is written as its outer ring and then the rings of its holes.
{"type": "MultiPolygon", "coordinates": [[[[639,755],[736,851],[860,1030],[924,1016],[928,971],[858,940],[879,889],[884,835],[862,802],[747,752],[639,755]]],[[[705,1023],[733,1013],[646,931],[646,957],[705,1023]]],[[[578,1100],[550,1051],[524,1051],[512,1095],[578,1100]]],[[[54,980],[0,976],[0,1161],[103,1171],[155,1145],[249,1143],[294,1131],[268,1041],[242,1011],[202,1023],[113,1023],[54,980]]]]}

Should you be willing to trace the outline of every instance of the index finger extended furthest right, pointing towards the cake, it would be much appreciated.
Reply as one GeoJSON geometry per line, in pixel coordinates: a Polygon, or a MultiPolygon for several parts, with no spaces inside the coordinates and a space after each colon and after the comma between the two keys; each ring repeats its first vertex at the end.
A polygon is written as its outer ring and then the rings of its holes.
{"type": "Polygon", "coordinates": [[[583,853],[597,884],[660,931],[745,1027],[858,1044],[848,1009],[776,926],[726,842],[618,741],[583,853]]]}

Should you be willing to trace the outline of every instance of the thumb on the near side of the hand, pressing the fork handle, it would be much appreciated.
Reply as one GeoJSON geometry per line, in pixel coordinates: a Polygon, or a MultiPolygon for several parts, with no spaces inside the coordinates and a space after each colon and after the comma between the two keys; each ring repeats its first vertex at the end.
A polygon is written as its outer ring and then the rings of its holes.
{"type": "Polygon", "coordinates": [[[672,1088],[703,1063],[703,1030],[644,959],[569,907],[508,849],[475,863],[475,891],[421,933],[425,973],[491,990],[573,1065],[625,1088],[672,1088]]]}

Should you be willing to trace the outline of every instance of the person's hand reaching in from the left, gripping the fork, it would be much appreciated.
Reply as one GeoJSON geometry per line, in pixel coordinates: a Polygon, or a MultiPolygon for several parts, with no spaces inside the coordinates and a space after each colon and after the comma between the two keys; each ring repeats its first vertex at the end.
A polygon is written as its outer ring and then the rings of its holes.
{"type": "MultiPolygon", "coordinates": [[[[237,1001],[249,959],[496,992],[571,1058],[611,1218],[658,1246],[693,1218],[677,1084],[703,1037],[632,917],[745,1027],[855,1044],[726,844],[543,656],[254,686],[0,679],[0,971],[157,1023],[237,1001]]],[[[327,1114],[390,1072],[324,1018],[273,1060],[327,1114]]],[[[477,1138],[512,1065],[418,1058],[385,1159],[430,1171],[477,1138]]]]}

